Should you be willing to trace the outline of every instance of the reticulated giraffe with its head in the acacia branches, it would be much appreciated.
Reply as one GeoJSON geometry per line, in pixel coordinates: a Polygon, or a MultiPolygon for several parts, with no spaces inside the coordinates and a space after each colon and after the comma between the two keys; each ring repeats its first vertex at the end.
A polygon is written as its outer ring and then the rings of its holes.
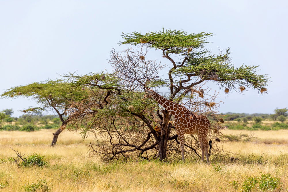
{"type": "MultiPolygon", "coordinates": [[[[174,103],[155,91],[144,88],[144,98],[154,98],[161,106],[170,112],[175,118],[175,129],[179,138],[182,160],[184,160],[184,134],[197,133],[202,151],[202,161],[204,161],[204,153],[206,152],[206,161],[209,163],[209,152],[207,143],[207,133],[210,130],[210,121],[206,116],[192,113],[185,107],[174,103]]],[[[211,140],[209,146],[211,150],[211,140]]]]}

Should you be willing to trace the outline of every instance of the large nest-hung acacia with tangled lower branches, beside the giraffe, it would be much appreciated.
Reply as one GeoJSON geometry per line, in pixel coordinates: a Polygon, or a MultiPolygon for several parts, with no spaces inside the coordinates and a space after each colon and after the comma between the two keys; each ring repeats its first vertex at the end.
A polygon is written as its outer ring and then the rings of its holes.
{"type": "MultiPolygon", "coordinates": [[[[209,116],[214,126],[213,133],[216,134],[219,105],[214,100],[217,94],[202,89],[205,81],[212,80],[220,87],[225,87],[226,93],[231,89],[237,90],[238,86],[240,91],[249,87],[261,93],[266,91],[264,86],[267,85],[267,77],[257,75],[255,66],[235,68],[230,62],[229,50],[225,54],[211,54],[204,49],[205,39],[210,35],[186,34],[175,30],[148,32],[146,35],[136,32],[124,34],[125,41],[122,44],[138,47],[137,50],[111,51],[109,62],[113,73],[110,75],[115,80],[114,84],[107,86],[95,82],[89,75],[71,75],[73,83],[81,82],[88,89],[105,90],[101,96],[106,98],[105,103],[94,94],[89,98],[88,105],[75,103],[77,108],[71,108],[70,111],[75,115],[75,127],[81,129],[82,133],[97,135],[96,143],[90,144],[92,152],[102,154],[106,159],[127,157],[127,153],[131,157],[131,153],[134,153],[137,157],[163,160],[167,158],[167,153],[169,157],[180,154],[177,134],[173,129],[173,116],[158,106],[156,101],[142,98],[145,84],[154,89],[167,87],[169,94],[166,96],[171,101],[192,112],[209,116]],[[146,50],[143,44],[147,45],[146,50]],[[172,66],[147,59],[149,48],[161,49],[162,57],[167,58],[172,66]],[[178,61],[174,61],[173,54],[178,57],[178,61]],[[160,73],[167,68],[168,78],[165,79],[160,73]],[[104,103],[102,107],[101,102],[104,103]]],[[[215,139],[213,133],[209,135],[215,139]]],[[[193,135],[185,141],[185,146],[192,149],[190,152],[194,155],[198,154],[200,148],[197,141],[193,135]]],[[[214,147],[217,150],[217,146],[214,147]]],[[[217,153],[219,155],[219,150],[217,153]]]]}

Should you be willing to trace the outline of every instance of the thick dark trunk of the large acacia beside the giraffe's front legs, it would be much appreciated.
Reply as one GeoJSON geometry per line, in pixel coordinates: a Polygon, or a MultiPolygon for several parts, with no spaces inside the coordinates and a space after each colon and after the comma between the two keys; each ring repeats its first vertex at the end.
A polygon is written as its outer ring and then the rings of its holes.
{"type": "Polygon", "coordinates": [[[158,144],[158,155],[157,155],[157,158],[160,161],[166,159],[168,137],[172,127],[172,124],[169,123],[169,120],[170,120],[169,113],[168,112],[164,113],[163,124],[161,127],[161,136],[158,144]]]}

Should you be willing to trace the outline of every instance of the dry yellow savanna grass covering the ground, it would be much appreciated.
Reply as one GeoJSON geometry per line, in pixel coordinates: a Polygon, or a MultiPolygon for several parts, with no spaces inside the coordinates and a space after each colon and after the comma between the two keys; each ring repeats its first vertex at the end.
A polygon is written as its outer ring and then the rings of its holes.
{"type": "MultiPolygon", "coordinates": [[[[52,132],[0,131],[0,159],[37,152],[45,155],[49,166],[20,167],[15,163],[0,163],[0,183],[7,183],[2,191],[24,191],[25,184],[46,178],[51,191],[237,191],[249,176],[270,173],[281,178],[282,189],[288,187],[287,156],[275,163],[282,154],[288,153],[287,145],[266,145],[263,142],[224,142],[223,146],[242,155],[264,155],[265,163],[226,162],[207,165],[202,162],[157,161],[104,163],[97,157],[89,157],[88,144],[92,138],[82,140],[77,134],[63,131],[56,147],[50,147],[52,132]],[[233,184],[234,183],[234,184],[233,184]]],[[[279,131],[232,131],[225,134],[253,134],[260,139],[288,138],[287,130],[279,131]]],[[[1,189],[0,189],[1,190],[1,189]]]]}

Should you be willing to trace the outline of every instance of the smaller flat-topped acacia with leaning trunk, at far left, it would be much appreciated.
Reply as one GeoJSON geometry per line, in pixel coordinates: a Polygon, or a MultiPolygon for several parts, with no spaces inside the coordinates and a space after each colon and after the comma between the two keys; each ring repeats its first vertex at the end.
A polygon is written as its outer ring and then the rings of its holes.
{"type": "Polygon", "coordinates": [[[71,101],[81,101],[87,97],[85,90],[64,80],[48,80],[44,82],[34,82],[25,86],[16,86],[8,89],[1,95],[4,98],[25,97],[35,100],[37,107],[24,109],[24,113],[35,113],[43,111],[53,111],[59,116],[62,125],[53,133],[51,146],[55,146],[58,135],[66,128],[70,117],[67,110],[71,101]]]}

